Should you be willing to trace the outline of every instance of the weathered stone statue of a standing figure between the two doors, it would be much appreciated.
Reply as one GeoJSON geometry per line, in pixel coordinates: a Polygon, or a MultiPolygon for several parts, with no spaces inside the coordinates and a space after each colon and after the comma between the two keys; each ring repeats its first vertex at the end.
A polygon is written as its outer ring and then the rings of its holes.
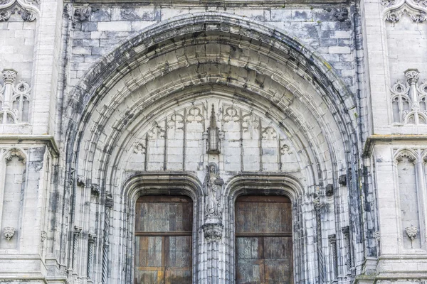
{"type": "Polygon", "coordinates": [[[206,168],[207,173],[203,182],[206,197],[205,219],[221,219],[221,192],[224,181],[219,176],[216,163],[209,163],[206,168]]]}

